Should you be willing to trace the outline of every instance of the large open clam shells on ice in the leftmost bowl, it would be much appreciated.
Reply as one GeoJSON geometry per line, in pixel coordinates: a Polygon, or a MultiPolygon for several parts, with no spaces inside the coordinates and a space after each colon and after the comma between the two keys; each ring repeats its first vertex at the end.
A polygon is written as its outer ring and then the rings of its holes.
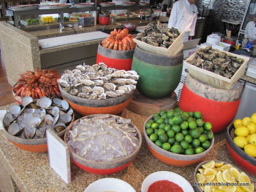
{"type": "Polygon", "coordinates": [[[35,102],[26,96],[21,103],[21,106],[11,106],[3,118],[4,127],[11,135],[26,139],[44,138],[46,129],[59,133],[72,120],[73,110],[66,100],[42,97],[35,102]]]}

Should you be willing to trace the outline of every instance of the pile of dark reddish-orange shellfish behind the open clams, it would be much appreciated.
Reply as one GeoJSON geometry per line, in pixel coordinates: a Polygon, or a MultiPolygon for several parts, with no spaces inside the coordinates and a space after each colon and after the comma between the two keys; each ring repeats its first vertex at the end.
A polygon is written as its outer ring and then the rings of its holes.
{"type": "Polygon", "coordinates": [[[57,79],[60,76],[55,70],[36,69],[34,72],[27,71],[20,75],[18,82],[14,85],[15,96],[31,96],[33,99],[47,97],[60,97],[57,79]]]}

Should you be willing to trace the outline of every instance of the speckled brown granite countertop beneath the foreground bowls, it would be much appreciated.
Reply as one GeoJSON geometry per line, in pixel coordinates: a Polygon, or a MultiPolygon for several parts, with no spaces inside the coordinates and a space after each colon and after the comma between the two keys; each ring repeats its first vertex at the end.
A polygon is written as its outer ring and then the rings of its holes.
{"type": "MultiPolygon", "coordinates": [[[[0,107],[0,109],[6,108],[6,106],[0,107]]],[[[143,124],[147,118],[146,116],[140,116],[126,110],[125,118],[131,118],[132,122],[138,127],[142,134],[143,124]]],[[[214,147],[202,161],[221,160],[237,166],[227,152],[225,134],[226,130],[215,134],[214,147]]],[[[20,150],[7,140],[2,130],[0,130],[0,160],[21,192],[83,192],[90,183],[106,177],[122,179],[132,185],[137,192],[140,192],[142,182],[146,176],[156,171],[175,172],[192,183],[194,170],[199,164],[197,163],[188,167],[168,166],[150,154],[143,138],[139,154],[128,168],[116,174],[95,175],[85,172],[70,161],[71,182],[70,184],[66,184],[49,166],[47,152],[32,153],[20,150]]],[[[256,183],[255,176],[251,174],[248,174],[248,176],[251,182],[256,183]]]]}

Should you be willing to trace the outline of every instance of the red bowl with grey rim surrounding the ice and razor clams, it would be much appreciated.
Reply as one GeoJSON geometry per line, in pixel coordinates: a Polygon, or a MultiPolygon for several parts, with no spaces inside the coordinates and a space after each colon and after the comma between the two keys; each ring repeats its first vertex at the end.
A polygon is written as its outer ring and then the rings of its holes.
{"type": "MultiPolygon", "coordinates": [[[[84,116],[80,119],[93,118],[97,115],[100,115],[100,114],[88,115],[88,116],[84,116]]],[[[116,117],[116,118],[122,118],[122,117],[115,116],[115,115],[111,115],[111,116],[116,117]]],[[[66,128],[66,132],[65,132],[65,136],[64,136],[64,141],[66,142],[66,144],[68,142],[68,140],[67,140],[68,131],[73,128],[74,124],[80,122],[80,119],[76,120],[75,122],[73,122],[66,128]]],[[[136,126],[134,126],[134,124],[132,124],[132,126],[135,127],[136,132],[138,133],[139,144],[138,144],[136,150],[134,150],[134,152],[132,152],[130,155],[120,158],[118,160],[110,161],[110,162],[96,162],[96,161],[87,160],[85,158],[82,158],[81,156],[78,156],[71,148],[69,148],[71,159],[81,169],[85,170],[86,172],[90,172],[90,173],[94,173],[94,174],[112,174],[112,173],[119,172],[119,171],[125,169],[135,160],[135,158],[140,150],[140,146],[142,144],[142,136],[140,134],[140,131],[138,130],[138,128],[136,128],[136,126]]]]}

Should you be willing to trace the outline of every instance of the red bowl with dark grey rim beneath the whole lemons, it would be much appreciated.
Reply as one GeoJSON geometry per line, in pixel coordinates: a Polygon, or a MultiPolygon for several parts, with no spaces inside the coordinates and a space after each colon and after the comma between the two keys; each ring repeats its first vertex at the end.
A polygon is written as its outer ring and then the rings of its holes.
{"type": "Polygon", "coordinates": [[[256,158],[248,155],[243,149],[239,148],[233,141],[236,137],[235,128],[231,123],[226,132],[226,146],[232,159],[244,170],[252,175],[256,175],[256,158]]]}

